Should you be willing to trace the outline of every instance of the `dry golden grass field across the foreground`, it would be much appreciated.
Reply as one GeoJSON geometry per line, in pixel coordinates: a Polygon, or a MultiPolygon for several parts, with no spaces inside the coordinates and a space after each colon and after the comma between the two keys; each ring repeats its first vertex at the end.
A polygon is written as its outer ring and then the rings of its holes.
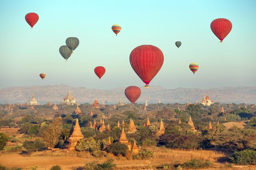
{"type": "MultiPolygon", "coordinates": [[[[225,155],[216,151],[204,151],[204,150],[174,150],[166,148],[150,147],[148,148],[154,152],[154,159],[146,160],[127,160],[126,157],[121,157],[117,160],[117,157],[113,155],[107,155],[115,159],[115,164],[119,170],[125,169],[156,169],[155,167],[161,167],[163,164],[176,164],[183,163],[184,161],[198,158],[209,159],[213,162],[213,167],[210,169],[228,169],[224,164],[217,162],[217,159],[224,157],[225,155]]],[[[7,167],[22,167],[29,169],[31,166],[37,166],[39,170],[49,170],[54,165],[59,165],[63,170],[72,170],[84,167],[86,163],[98,161],[102,163],[106,161],[105,157],[96,158],[91,156],[87,152],[76,151],[56,151],[52,153],[35,152],[31,155],[22,155],[20,153],[3,153],[0,155],[0,164],[7,167]]],[[[233,166],[230,169],[256,169],[253,166],[233,166]]]]}

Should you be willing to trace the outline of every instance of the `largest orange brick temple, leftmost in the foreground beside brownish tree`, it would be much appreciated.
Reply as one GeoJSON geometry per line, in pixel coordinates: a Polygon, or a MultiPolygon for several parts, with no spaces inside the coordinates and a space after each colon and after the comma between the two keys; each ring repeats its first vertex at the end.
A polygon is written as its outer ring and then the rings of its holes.
{"type": "Polygon", "coordinates": [[[82,138],[84,138],[84,136],[82,135],[78,119],[76,118],[76,125],[74,127],[74,130],[70,130],[69,137],[64,142],[64,149],[74,150],[76,148],[78,140],[82,138]]]}

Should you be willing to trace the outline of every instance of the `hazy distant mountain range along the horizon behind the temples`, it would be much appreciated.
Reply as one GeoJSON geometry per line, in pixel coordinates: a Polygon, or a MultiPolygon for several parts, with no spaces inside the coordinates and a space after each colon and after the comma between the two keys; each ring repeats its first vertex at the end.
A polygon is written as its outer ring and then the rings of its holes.
{"type": "MultiPolygon", "coordinates": [[[[59,104],[70,90],[78,103],[93,103],[95,98],[101,103],[114,104],[121,100],[130,103],[124,94],[126,87],[113,90],[87,89],[85,87],[69,87],[67,85],[47,85],[32,87],[9,87],[0,89],[0,103],[29,102],[32,94],[39,104],[46,104],[48,101],[59,104]]],[[[157,103],[160,99],[162,103],[194,103],[200,102],[203,96],[208,96],[210,100],[220,103],[247,103],[256,104],[256,87],[221,87],[212,89],[165,89],[161,86],[150,86],[149,89],[141,87],[141,96],[137,103],[157,103]]]]}

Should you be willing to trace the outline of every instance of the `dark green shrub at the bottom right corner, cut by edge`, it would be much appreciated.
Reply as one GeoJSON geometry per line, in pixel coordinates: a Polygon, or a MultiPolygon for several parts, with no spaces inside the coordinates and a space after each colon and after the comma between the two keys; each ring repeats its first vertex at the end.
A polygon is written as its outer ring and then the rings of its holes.
{"type": "Polygon", "coordinates": [[[256,165],[256,151],[248,149],[243,151],[235,151],[234,155],[229,157],[229,159],[231,162],[239,165],[256,165]]]}

